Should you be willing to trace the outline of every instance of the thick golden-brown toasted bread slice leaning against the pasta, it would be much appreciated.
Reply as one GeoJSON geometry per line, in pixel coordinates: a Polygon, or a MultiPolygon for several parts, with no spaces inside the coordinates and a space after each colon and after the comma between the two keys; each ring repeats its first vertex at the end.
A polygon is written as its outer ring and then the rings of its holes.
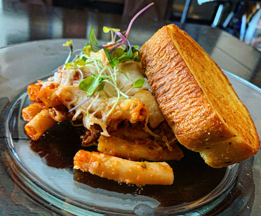
{"type": "Polygon", "coordinates": [[[142,67],[178,141],[220,168],[256,154],[260,140],[247,108],[221,69],[170,24],[140,50],[142,67]]]}

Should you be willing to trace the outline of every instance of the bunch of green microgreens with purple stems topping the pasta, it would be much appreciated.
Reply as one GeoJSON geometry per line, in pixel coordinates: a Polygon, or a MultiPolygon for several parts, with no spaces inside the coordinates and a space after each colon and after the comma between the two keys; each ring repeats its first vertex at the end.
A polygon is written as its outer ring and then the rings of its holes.
{"type": "MultiPolygon", "coordinates": [[[[69,53],[69,55],[65,61],[64,68],[65,67],[66,68],[74,67],[80,72],[81,79],[80,79],[80,83],[79,83],[79,88],[81,90],[87,92],[87,98],[84,101],[82,101],[80,104],[75,106],[74,108],[71,108],[69,110],[69,112],[82,106],[84,103],[86,103],[88,100],[90,100],[95,95],[95,93],[96,93],[96,96],[95,96],[94,100],[97,100],[97,98],[99,97],[99,91],[103,90],[105,83],[108,83],[108,84],[114,86],[114,88],[117,91],[117,95],[118,95],[114,105],[111,107],[110,111],[106,114],[106,117],[108,117],[112,113],[114,108],[117,106],[117,104],[121,98],[124,98],[124,99],[129,98],[127,93],[131,89],[142,88],[142,86],[144,84],[144,79],[141,78],[141,79],[136,80],[134,82],[133,86],[129,90],[127,90],[125,93],[123,93],[117,86],[117,73],[118,73],[118,71],[124,73],[124,71],[122,71],[118,67],[119,63],[125,62],[125,61],[136,61],[136,62],[140,61],[139,54],[138,54],[139,47],[138,46],[131,47],[129,41],[127,40],[127,37],[128,37],[130,28],[131,28],[134,20],[143,11],[145,11],[147,8],[149,8],[151,5],[153,5],[153,3],[144,7],[140,12],[138,12],[133,17],[133,19],[131,20],[131,22],[128,25],[126,32],[121,33],[119,29],[104,26],[103,31],[105,33],[111,32],[111,37],[112,37],[111,43],[108,43],[105,45],[100,45],[95,36],[95,31],[94,31],[94,29],[92,29],[90,32],[90,35],[89,35],[90,43],[86,43],[85,47],[82,49],[82,53],[77,56],[78,59],[76,61],[74,60],[73,62],[69,63],[71,55],[74,52],[72,50],[72,41],[68,40],[66,43],[63,44],[64,46],[69,46],[71,49],[71,52],[69,53]],[[117,38],[119,38],[119,39],[116,40],[117,38]],[[98,52],[101,49],[104,50],[104,53],[109,61],[109,65],[103,65],[103,63],[101,61],[98,61],[94,58],[94,54],[92,53],[92,51],[98,52]],[[83,79],[83,73],[82,73],[80,67],[88,65],[88,64],[93,64],[96,66],[97,74],[92,73],[91,76],[83,79]]],[[[124,75],[127,77],[127,75],[125,73],[124,73],[124,75]]],[[[89,108],[92,106],[93,103],[94,102],[92,102],[88,106],[87,113],[89,113],[89,108]]]]}

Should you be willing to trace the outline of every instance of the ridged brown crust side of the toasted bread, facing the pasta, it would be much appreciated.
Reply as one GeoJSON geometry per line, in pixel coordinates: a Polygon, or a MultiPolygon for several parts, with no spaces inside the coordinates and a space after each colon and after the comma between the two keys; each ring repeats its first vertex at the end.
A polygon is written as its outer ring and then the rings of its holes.
{"type": "MultiPolygon", "coordinates": [[[[163,35],[164,34],[167,34],[167,32],[164,32],[163,35]]],[[[186,142],[186,135],[184,132],[184,128],[186,128],[186,134],[195,131],[193,141],[190,142],[191,144],[187,143],[189,146],[188,148],[195,151],[199,151],[202,148],[204,149],[205,147],[201,145],[202,139],[204,141],[213,140],[213,137],[215,138],[216,135],[206,133],[204,136],[200,137],[201,132],[197,132],[196,130],[207,131],[215,128],[218,135],[223,130],[221,121],[215,116],[214,110],[207,103],[202,90],[196,84],[194,77],[184,63],[180,53],[175,49],[171,39],[168,37],[163,41],[156,40],[153,41],[152,44],[153,49],[149,48],[148,51],[143,52],[145,55],[147,55],[147,53],[151,54],[147,56],[148,58],[146,58],[143,65],[145,65],[147,61],[149,62],[150,66],[146,67],[145,73],[154,96],[163,111],[164,117],[173,128],[174,133],[180,135],[178,140],[181,143],[186,142]],[[165,51],[162,50],[162,47],[164,47],[165,51]],[[161,51],[160,54],[157,55],[157,58],[153,58],[152,56],[154,56],[154,54],[152,53],[158,53],[159,50],[161,51]],[[160,58],[160,60],[158,58],[160,58]],[[162,60],[165,60],[168,64],[162,66],[162,60]],[[179,67],[176,68],[176,65],[179,67]],[[172,68],[175,68],[175,70],[172,68]],[[159,79],[158,76],[162,79],[159,79]],[[175,79],[173,79],[173,77],[175,77],[175,79]],[[168,79],[173,81],[168,83],[168,79]],[[193,97],[187,98],[187,95],[190,94],[193,95],[193,97]],[[202,104],[206,104],[206,106],[202,107],[202,104]],[[193,109],[193,112],[191,112],[191,108],[193,109]],[[183,110],[183,112],[177,112],[176,110],[183,110]],[[211,126],[209,126],[209,118],[206,118],[205,121],[202,122],[194,118],[194,116],[202,115],[211,116],[214,117],[214,119],[216,118],[214,125],[211,124],[211,126]],[[197,124],[194,125],[193,122],[197,122],[197,124]],[[199,143],[199,145],[195,147],[194,142],[199,143]]],[[[224,136],[227,137],[231,135],[232,134],[228,133],[224,134],[224,136]]]]}

